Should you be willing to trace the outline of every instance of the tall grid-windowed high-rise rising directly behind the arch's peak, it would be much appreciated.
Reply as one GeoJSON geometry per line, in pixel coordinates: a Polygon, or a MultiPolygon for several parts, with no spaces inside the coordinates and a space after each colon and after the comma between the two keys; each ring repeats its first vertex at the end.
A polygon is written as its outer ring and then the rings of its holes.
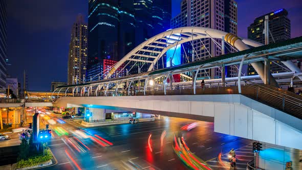
{"type": "MultiPolygon", "coordinates": [[[[171,28],[178,27],[205,27],[217,29],[225,32],[237,34],[237,3],[233,0],[183,0],[181,2],[181,12],[171,19],[171,28]]],[[[221,44],[221,39],[215,39],[221,44]]],[[[182,54],[182,62],[207,59],[221,55],[221,49],[209,38],[194,40],[184,44],[185,55],[182,54]],[[209,54],[210,53],[210,54],[209,54]]],[[[232,50],[225,50],[233,52],[232,50]]],[[[234,66],[226,68],[228,77],[238,75],[238,70],[234,66]]],[[[221,78],[219,68],[201,71],[199,79],[221,78]]]]}

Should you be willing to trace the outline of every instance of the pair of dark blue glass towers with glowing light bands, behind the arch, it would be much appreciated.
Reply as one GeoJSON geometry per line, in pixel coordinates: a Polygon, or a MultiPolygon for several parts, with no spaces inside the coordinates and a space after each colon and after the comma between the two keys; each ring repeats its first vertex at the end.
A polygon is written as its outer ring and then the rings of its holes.
{"type": "Polygon", "coordinates": [[[87,80],[106,75],[104,59],[119,61],[141,42],[169,29],[170,18],[171,0],[90,0],[87,80]]]}

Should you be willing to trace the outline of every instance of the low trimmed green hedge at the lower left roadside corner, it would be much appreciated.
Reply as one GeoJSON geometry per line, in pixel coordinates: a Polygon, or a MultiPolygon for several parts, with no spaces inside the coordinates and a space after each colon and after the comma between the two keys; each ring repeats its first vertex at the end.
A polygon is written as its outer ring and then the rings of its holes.
{"type": "Polygon", "coordinates": [[[27,160],[20,160],[17,162],[17,168],[36,166],[39,164],[43,164],[52,159],[52,154],[49,150],[45,151],[45,156],[39,155],[35,157],[30,157],[27,160]]]}

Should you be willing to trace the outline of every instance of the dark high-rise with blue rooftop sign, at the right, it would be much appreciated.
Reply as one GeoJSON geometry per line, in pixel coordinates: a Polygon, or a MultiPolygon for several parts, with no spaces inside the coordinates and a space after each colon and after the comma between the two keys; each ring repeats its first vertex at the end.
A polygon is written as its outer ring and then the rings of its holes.
{"type": "MultiPolygon", "coordinates": [[[[290,20],[287,17],[288,12],[285,9],[279,9],[274,12],[267,13],[260,17],[255,18],[254,22],[248,27],[248,38],[265,44],[264,20],[265,16],[269,16],[269,42],[279,42],[290,39],[290,20]]],[[[282,62],[271,62],[271,73],[286,72],[286,66],[282,62]]],[[[248,74],[255,75],[257,72],[253,67],[248,67],[248,74]]]]}

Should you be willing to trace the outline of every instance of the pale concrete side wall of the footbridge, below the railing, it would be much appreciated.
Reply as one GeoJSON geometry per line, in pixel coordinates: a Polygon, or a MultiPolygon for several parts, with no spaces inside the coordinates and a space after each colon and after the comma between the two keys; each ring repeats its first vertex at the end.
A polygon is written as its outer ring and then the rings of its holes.
{"type": "Polygon", "coordinates": [[[302,120],[242,95],[61,97],[68,104],[214,120],[214,131],[302,150],[302,120]]]}

